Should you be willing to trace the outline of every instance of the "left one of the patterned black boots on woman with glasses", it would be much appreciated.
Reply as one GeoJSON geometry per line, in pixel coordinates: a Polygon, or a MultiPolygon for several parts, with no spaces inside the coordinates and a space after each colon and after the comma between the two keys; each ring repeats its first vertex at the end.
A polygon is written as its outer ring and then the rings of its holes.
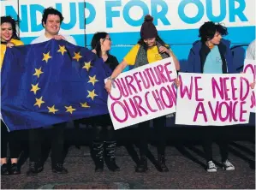
{"type": "Polygon", "coordinates": [[[92,142],[92,153],[95,161],[95,172],[102,172],[104,167],[103,152],[104,152],[104,142],[92,142]]]}

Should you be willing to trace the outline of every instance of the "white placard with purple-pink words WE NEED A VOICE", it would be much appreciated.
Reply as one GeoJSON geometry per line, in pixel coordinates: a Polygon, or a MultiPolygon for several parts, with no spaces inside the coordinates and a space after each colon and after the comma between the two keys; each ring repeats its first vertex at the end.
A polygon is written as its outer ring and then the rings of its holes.
{"type": "Polygon", "coordinates": [[[247,123],[250,86],[246,74],[180,73],[176,124],[223,126],[247,123]]]}

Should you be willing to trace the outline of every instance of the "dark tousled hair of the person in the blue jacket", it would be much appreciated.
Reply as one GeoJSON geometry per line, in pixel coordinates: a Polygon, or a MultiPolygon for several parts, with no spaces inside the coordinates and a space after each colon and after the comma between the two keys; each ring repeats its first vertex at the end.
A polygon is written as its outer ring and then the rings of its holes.
{"type": "Polygon", "coordinates": [[[219,23],[214,23],[212,21],[207,21],[199,28],[199,37],[201,41],[205,42],[208,39],[213,39],[215,33],[220,33],[222,36],[228,35],[227,27],[223,27],[219,23]]]}

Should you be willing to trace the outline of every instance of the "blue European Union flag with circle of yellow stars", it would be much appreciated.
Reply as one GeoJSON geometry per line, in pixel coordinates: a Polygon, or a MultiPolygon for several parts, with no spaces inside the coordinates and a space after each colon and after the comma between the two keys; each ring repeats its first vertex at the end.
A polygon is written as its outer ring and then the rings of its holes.
{"type": "Polygon", "coordinates": [[[1,114],[9,131],[109,113],[110,68],[91,50],[51,39],[6,50],[1,114]]]}

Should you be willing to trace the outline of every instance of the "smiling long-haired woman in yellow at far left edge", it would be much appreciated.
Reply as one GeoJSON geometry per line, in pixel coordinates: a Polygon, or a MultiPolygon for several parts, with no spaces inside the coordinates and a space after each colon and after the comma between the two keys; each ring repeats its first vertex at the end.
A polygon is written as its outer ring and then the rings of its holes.
{"type": "MultiPolygon", "coordinates": [[[[17,36],[15,20],[10,16],[1,17],[1,62],[0,68],[3,65],[3,57],[6,48],[11,48],[15,45],[23,45],[20,38],[17,36]]],[[[1,175],[17,175],[21,174],[21,168],[17,165],[18,157],[21,153],[21,143],[18,141],[19,131],[8,132],[1,118],[1,175]],[[9,152],[11,165],[8,165],[7,160],[7,144],[9,142],[9,152]]],[[[21,135],[20,135],[21,136],[21,135]]]]}

